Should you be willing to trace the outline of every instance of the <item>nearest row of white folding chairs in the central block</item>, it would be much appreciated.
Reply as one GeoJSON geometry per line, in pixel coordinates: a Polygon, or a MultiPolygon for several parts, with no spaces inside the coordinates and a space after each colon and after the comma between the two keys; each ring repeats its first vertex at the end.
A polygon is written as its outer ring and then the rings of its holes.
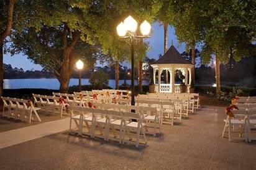
{"type": "Polygon", "coordinates": [[[70,118],[70,132],[72,125],[71,122],[75,121],[76,126],[78,127],[78,134],[88,134],[91,137],[103,137],[104,140],[116,140],[115,130],[114,138],[110,138],[109,131],[110,129],[119,129],[119,143],[130,143],[130,130],[135,130],[136,132],[136,147],[139,147],[139,137],[142,133],[145,143],[147,143],[147,138],[145,137],[145,123],[142,122],[140,114],[129,113],[129,112],[120,112],[120,111],[111,111],[106,109],[91,109],[91,108],[82,108],[78,106],[71,106],[71,109],[80,112],[79,116],[74,116],[70,118]],[[130,121],[135,119],[137,122],[130,121]],[[83,132],[83,122],[88,129],[88,132],[83,132]],[[90,124],[90,125],[89,125],[90,124]],[[99,127],[100,135],[96,135],[96,126],[99,127]],[[104,128],[104,130],[103,130],[104,128]],[[103,132],[104,131],[104,132],[103,132]],[[129,135],[129,140],[126,140],[125,135],[129,135]]]}

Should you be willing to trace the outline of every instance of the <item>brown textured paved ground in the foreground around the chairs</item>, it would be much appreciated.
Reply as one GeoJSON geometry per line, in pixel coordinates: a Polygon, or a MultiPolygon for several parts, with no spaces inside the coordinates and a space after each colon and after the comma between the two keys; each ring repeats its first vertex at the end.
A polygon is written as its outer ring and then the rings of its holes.
{"type": "Polygon", "coordinates": [[[43,126],[47,136],[0,149],[0,169],[256,169],[256,142],[222,138],[224,118],[225,108],[204,106],[139,149],[43,126]]]}

